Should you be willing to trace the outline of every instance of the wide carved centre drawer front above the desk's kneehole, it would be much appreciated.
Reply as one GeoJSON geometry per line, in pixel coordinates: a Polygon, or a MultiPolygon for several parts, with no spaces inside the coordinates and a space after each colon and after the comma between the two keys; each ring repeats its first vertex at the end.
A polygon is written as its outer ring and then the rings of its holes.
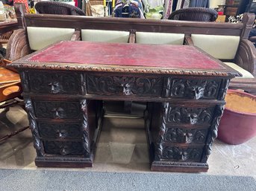
{"type": "Polygon", "coordinates": [[[162,86],[160,77],[87,75],[87,94],[160,97],[162,86]]]}

